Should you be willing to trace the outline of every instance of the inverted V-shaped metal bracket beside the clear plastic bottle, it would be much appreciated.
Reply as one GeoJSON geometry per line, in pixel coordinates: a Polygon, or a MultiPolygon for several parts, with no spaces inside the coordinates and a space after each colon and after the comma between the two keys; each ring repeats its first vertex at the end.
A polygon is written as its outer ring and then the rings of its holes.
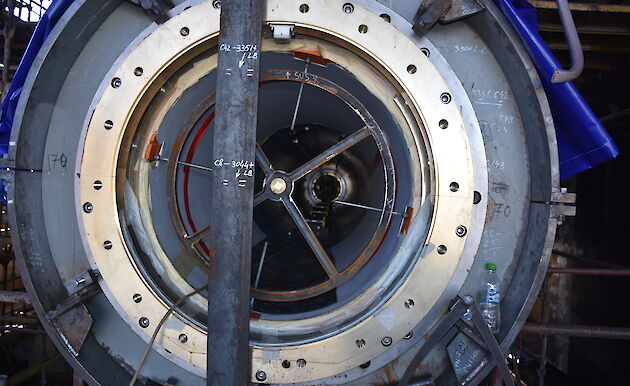
{"type": "MultiPolygon", "coordinates": [[[[422,360],[429,354],[429,352],[433,349],[433,347],[446,335],[446,333],[457,324],[459,320],[467,320],[471,321],[475,326],[483,343],[486,346],[486,349],[490,353],[491,359],[493,362],[497,364],[499,367],[499,372],[501,373],[501,377],[503,378],[503,382],[507,386],[514,386],[514,381],[512,380],[512,375],[510,374],[510,369],[507,366],[505,359],[503,358],[503,353],[501,352],[501,348],[499,347],[499,343],[495,339],[494,335],[490,331],[490,328],[486,324],[481,311],[475,304],[472,296],[464,296],[462,298],[458,297],[454,304],[451,306],[449,312],[446,316],[438,323],[438,325],[433,329],[428,339],[422,344],[420,350],[416,353],[416,355],[411,360],[409,367],[405,371],[402,376],[399,386],[407,386],[409,380],[414,375],[418,366],[422,360]]],[[[476,371],[475,375],[469,376],[469,383],[476,384],[474,382],[479,381],[479,374],[481,372],[476,371]]]]}

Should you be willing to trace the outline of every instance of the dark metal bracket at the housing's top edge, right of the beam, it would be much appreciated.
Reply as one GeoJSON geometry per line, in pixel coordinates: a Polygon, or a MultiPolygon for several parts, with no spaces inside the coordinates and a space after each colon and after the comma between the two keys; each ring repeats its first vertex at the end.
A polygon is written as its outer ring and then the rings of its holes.
{"type": "Polygon", "coordinates": [[[435,23],[447,24],[483,11],[477,0],[425,0],[414,17],[413,30],[424,35],[435,23]]]}

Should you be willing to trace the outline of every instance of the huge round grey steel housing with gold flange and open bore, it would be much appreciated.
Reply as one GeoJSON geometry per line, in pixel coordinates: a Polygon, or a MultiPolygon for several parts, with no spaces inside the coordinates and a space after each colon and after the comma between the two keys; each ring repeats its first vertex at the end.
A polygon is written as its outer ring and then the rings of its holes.
{"type": "MultiPolygon", "coordinates": [[[[11,181],[15,250],[46,330],[90,384],[128,383],[167,309],[212,273],[210,169],[240,162],[211,159],[205,133],[218,51],[250,48],[217,46],[217,2],[175,3],[157,23],[129,2],[75,1],[15,119],[11,159],[36,171],[11,181]]],[[[489,262],[511,345],[554,238],[558,162],[536,72],[484,5],[418,36],[416,1],[266,2],[260,162],[240,165],[260,185],[252,382],[395,382],[489,262]],[[333,146],[299,170],[299,154],[333,146]]],[[[208,296],[167,320],[142,382],[206,384],[208,296]]],[[[444,384],[454,334],[423,362],[444,384]]]]}

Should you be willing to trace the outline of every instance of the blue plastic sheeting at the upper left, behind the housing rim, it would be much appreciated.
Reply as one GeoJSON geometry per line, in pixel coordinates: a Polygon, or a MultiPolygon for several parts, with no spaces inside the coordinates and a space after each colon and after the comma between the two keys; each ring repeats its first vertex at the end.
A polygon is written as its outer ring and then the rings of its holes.
{"type": "MultiPolygon", "coordinates": [[[[31,37],[31,41],[20,62],[20,66],[11,81],[7,97],[2,103],[2,116],[0,116],[0,155],[7,154],[9,151],[9,138],[11,136],[11,128],[13,127],[15,109],[20,99],[20,94],[22,93],[24,81],[33,65],[33,61],[39,53],[39,49],[44,44],[44,40],[46,40],[50,31],[73,1],[74,0],[54,0],[35,28],[35,32],[31,37]]],[[[5,63],[5,65],[8,66],[9,64],[5,63]]],[[[1,188],[2,185],[0,185],[0,189],[1,188]]]]}

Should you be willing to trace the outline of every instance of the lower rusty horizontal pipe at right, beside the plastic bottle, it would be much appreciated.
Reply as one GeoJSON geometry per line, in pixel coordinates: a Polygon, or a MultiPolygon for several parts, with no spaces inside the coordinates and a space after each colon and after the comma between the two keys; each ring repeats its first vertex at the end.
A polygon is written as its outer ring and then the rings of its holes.
{"type": "Polygon", "coordinates": [[[630,340],[630,328],[620,327],[525,323],[521,332],[530,335],[566,335],[580,338],[630,340]]]}

